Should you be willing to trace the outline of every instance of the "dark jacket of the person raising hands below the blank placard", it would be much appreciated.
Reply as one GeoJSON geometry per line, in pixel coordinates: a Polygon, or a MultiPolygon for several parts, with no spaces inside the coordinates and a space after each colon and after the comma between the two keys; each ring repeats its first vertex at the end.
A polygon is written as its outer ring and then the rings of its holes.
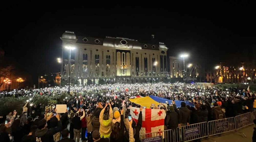
{"type": "Polygon", "coordinates": [[[36,139],[41,139],[42,142],[54,142],[53,135],[61,131],[61,121],[58,121],[58,126],[48,129],[44,128],[41,130],[36,130],[36,139]]]}

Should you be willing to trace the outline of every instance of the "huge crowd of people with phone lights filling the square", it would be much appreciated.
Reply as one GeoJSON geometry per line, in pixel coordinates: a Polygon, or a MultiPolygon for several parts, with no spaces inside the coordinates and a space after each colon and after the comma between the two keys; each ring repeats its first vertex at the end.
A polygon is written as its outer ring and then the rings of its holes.
{"type": "MultiPolygon", "coordinates": [[[[165,130],[176,130],[200,122],[234,117],[256,109],[255,94],[245,89],[216,87],[198,88],[188,83],[136,83],[71,86],[70,95],[61,100],[67,105],[65,113],[57,113],[56,104],[33,103],[33,97],[67,93],[68,87],[20,89],[1,91],[3,97],[30,97],[22,112],[12,110],[1,114],[0,139],[9,141],[124,141],[139,142],[142,114],[137,124],[128,120],[130,107],[142,106],[129,101],[135,96],[155,95],[173,100],[172,104],[159,104],[166,112],[165,130]],[[190,101],[193,106],[176,106],[174,100],[190,101]],[[31,106],[31,107],[29,107],[31,106]]],[[[4,104],[1,104],[4,105],[4,104]]]]}

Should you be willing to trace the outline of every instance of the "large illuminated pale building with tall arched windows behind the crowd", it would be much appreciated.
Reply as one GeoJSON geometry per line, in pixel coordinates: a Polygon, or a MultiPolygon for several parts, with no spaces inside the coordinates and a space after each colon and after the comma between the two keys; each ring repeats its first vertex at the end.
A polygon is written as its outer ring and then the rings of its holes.
{"type": "Polygon", "coordinates": [[[156,42],[139,42],[123,37],[85,37],[66,31],[62,37],[61,84],[158,82],[167,72],[168,48],[156,42]],[[69,49],[71,50],[69,65],[69,49]],[[69,67],[71,68],[69,69],[69,67]]]}

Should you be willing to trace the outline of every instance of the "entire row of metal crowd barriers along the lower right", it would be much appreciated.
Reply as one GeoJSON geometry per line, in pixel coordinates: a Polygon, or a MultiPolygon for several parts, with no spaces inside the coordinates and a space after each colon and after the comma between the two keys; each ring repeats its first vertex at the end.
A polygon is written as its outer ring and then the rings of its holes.
{"type": "MultiPolygon", "coordinates": [[[[241,133],[243,137],[246,137],[244,133],[238,130],[253,124],[253,119],[256,119],[256,111],[248,112],[235,117],[191,124],[188,126],[181,126],[176,130],[165,130],[140,134],[140,139],[142,140],[146,138],[161,137],[162,142],[186,142],[204,137],[211,139],[210,136],[230,131],[236,131],[241,133]]],[[[214,139],[211,140],[214,141],[214,139]]]]}

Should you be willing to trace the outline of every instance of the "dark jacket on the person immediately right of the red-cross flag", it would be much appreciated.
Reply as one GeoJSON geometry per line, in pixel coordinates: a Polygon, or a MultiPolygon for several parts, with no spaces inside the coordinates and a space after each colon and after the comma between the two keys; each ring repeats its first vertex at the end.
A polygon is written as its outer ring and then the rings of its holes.
{"type": "Polygon", "coordinates": [[[179,126],[179,118],[177,112],[167,111],[164,125],[167,126],[168,130],[176,130],[176,128],[179,126]]]}

